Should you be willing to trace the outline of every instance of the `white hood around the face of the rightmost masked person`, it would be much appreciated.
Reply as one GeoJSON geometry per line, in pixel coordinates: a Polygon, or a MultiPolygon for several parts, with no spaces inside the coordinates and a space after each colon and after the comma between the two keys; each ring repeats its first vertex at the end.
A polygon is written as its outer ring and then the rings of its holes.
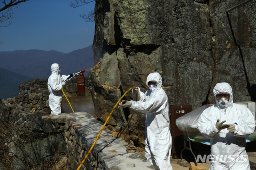
{"type": "Polygon", "coordinates": [[[228,108],[228,107],[232,107],[233,106],[233,92],[232,92],[232,87],[228,84],[228,83],[217,83],[213,89],[213,94],[215,97],[215,101],[217,106],[220,109],[224,109],[224,108],[228,108]],[[225,93],[229,93],[230,94],[230,98],[228,101],[228,105],[226,107],[223,107],[222,105],[220,105],[218,99],[216,98],[216,94],[220,93],[220,92],[225,92],[225,93]]]}

